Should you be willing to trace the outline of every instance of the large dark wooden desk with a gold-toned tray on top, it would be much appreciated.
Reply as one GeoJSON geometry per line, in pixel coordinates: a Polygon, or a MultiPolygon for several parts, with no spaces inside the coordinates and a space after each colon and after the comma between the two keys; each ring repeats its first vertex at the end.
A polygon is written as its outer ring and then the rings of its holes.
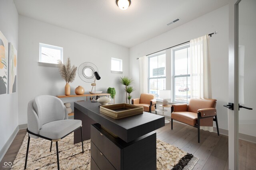
{"type": "MultiPolygon", "coordinates": [[[[156,170],[152,131],[164,126],[163,116],[144,112],[113,119],[100,113],[98,103],[84,101],[74,102],[74,119],[82,120],[84,140],[91,139],[91,170],[156,170]]],[[[74,143],[80,141],[80,131],[75,131],[74,143]]]]}

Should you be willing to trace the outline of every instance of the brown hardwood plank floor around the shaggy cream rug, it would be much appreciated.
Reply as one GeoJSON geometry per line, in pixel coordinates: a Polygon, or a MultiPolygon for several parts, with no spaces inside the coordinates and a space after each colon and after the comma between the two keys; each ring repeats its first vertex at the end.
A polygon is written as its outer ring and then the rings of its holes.
{"type": "MultiPolygon", "coordinates": [[[[26,130],[20,130],[0,162],[0,170],[4,162],[13,162],[22,144],[26,130]]],[[[197,142],[197,129],[188,125],[174,122],[173,130],[170,123],[156,130],[157,138],[170,143],[200,160],[194,170],[228,170],[228,137],[218,136],[217,133],[200,131],[200,143],[197,142]]],[[[256,144],[239,141],[239,170],[256,169],[256,144]]],[[[23,168],[23,167],[21,167],[23,168]]]]}

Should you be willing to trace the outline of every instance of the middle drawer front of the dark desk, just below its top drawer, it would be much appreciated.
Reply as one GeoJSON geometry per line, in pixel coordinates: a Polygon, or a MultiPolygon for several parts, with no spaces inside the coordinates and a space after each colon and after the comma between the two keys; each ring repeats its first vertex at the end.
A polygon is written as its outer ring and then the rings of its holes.
{"type": "Polygon", "coordinates": [[[91,142],[91,156],[100,170],[116,170],[93,142],[91,142]]]}

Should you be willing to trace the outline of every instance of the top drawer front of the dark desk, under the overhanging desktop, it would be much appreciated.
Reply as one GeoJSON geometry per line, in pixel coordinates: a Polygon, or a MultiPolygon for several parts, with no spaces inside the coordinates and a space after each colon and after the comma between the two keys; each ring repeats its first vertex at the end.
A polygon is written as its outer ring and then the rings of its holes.
{"type": "Polygon", "coordinates": [[[91,141],[116,169],[121,169],[121,149],[107,137],[108,135],[106,131],[91,125],[91,141]]]}

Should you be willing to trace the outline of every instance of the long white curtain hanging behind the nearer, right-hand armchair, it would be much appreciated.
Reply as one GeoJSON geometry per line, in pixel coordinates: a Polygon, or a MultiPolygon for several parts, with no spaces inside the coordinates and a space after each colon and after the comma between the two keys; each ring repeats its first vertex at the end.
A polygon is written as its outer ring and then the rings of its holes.
{"type": "MultiPolygon", "coordinates": [[[[190,40],[190,88],[191,98],[212,98],[209,36],[190,40]]],[[[200,129],[213,131],[213,127],[200,129]]]]}

